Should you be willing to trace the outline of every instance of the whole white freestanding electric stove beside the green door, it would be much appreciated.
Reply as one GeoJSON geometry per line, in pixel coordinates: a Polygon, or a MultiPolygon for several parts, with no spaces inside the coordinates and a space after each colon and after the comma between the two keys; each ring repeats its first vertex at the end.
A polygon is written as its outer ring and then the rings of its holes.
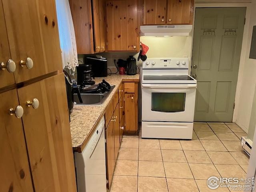
{"type": "Polygon", "coordinates": [[[192,139],[196,80],[188,58],[142,63],[142,138],[192,139]]]}

